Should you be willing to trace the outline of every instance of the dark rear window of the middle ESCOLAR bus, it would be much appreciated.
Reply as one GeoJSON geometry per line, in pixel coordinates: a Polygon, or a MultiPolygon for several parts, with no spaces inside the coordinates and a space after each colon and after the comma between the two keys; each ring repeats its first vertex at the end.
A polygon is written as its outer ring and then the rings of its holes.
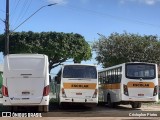
{"type": "Polygon", "coordinates": [[[97,79],[97,70],[95,66],[66,65],[63,69],[63,78],[97,79]]]}

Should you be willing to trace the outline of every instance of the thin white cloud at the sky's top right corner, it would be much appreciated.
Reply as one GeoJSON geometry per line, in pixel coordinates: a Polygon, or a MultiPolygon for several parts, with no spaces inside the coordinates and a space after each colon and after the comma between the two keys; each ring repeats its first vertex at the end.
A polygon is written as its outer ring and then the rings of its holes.
{"type": "Polygon", "coordinates": [[[160,2],[160,0],[120,0],[121,4],[125,4],[127,2],[137,2],[146,5],[155,5],[156,3],[160,2]]]}

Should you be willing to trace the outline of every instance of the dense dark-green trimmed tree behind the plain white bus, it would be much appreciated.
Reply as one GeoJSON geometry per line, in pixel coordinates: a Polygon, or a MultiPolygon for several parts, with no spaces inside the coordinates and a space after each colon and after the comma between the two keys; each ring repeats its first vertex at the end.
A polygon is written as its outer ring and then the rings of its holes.
{"type": "MultiPolygon", "coordinates": [[[[10,54],[39,53],[49,57],[49,69],[67,59],[75,62],[91,58],[91,48],[80,34],[63,32],[14,32],[10,35],[10,54]]],[[[0,35],[0,51],[4,53],[4,34],[0,35]]]]}

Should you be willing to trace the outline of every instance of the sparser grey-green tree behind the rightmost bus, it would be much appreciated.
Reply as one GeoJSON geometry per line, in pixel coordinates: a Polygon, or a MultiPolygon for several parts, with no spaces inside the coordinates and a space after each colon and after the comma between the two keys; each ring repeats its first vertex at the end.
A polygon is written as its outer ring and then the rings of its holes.
{"type": "Polygon", "coordinates": [[[160,41],[157,36],[130,33],[112,33],[109,37],[101,35],[93,45],[96,60],[103,67],[125,62],[160,63],[160,41]]]}

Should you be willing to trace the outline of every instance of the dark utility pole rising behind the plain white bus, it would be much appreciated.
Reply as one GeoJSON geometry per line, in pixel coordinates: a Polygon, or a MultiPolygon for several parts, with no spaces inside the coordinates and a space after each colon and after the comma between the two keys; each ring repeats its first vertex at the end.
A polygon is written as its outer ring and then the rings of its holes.
{"type": "Polygon", "coordinates": [[[6,0],[5,55],[9,54],[9,0],[6,0]]]}

